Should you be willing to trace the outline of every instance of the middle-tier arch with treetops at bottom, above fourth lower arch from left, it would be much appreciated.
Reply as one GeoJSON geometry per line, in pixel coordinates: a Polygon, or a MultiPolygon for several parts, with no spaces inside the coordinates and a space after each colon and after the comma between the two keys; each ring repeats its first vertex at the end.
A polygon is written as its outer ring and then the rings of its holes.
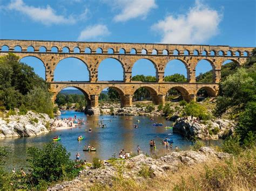
{"type": "MultiPolygon", "coordinates": [[[[179,60],[179,59],[170,60],[165,65],[164,72],[165,72],[164,73],[165,81],[169,81],[168,77],[166,77],[166,76],[171,76],[174,74],[184,75],[186,78],[186,81],[188,81],[190,79],[190,70],[188,69],[187,64],[183,60],[179,60]]],[[[173,77],[172,77],[172,79],[173,79],[173,77]]],[[[180,76],[180,77],[182,77],[182,76],[180,76]]],[[[179,78],[177,80],[173,79],[172,81],[184,82],[184,80],[181,78],[179,78]]]]}

